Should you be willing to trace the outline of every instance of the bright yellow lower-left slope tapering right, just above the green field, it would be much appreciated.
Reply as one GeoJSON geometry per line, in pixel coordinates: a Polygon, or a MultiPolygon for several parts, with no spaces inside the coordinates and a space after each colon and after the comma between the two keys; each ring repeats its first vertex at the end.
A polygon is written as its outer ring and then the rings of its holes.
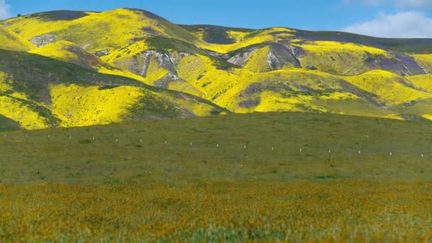
{"type": "Polygon", "coordinates": [[[67,117],[69,126],[195,117],[222,111],[188,95],[177,97],[172,92],[142,87],[54,85],[50,91],[53,110],[67,117]]]}

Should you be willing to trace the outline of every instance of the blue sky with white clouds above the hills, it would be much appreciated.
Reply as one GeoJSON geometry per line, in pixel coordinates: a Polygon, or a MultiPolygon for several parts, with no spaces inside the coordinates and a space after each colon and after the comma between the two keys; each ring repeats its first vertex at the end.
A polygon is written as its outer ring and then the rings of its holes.
{"type": "Polygon", "coordinates": [[[432,0],[0,0],[0,19],[18,13],[124,7],[145,9],[183,24],[432,38],[432,0]]]}

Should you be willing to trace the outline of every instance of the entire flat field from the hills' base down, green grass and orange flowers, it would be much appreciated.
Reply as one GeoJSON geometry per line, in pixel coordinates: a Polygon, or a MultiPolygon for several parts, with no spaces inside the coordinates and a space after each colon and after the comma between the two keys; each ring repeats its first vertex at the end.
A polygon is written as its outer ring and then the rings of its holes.
{"type": "Polygon", "coordinates": [[[431,135],[301,113],[1,132],[0,240],[428,241],[431,135]]]}

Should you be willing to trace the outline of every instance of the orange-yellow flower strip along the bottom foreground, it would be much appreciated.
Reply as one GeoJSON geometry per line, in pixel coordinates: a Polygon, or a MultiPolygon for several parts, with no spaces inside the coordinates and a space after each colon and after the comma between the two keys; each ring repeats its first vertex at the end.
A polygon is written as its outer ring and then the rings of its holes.
{"type": "Polygon", "coordinates": [[[6,242],[428,241],[432,183],[0,187],[6,242]]]}

